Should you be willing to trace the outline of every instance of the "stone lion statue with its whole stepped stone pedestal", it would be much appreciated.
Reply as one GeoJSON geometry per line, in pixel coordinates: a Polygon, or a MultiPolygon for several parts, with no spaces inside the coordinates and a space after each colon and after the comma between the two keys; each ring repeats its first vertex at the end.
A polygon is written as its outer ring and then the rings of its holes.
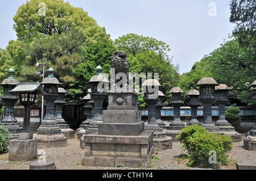
{"type": "MultiPolygon", "coordinates": [[[[130,61],[125,52],[115,52],[111,65],[112,69],[115,68],[115,74],[112,71],[114,78],[122,71],[124,77],[120,81],[128,78],[125,76],[129,75],[130,61]]],[[[130,86],[118,86],[118,81],[112,81],[108,108],[103,111],[103,121],[98,123],[98,132],[84,136],[85,157],[82,164],[148,167],[154,151],[153,131],[144,130],[141,111],[137,107],[138,94],[130,86]]]]}

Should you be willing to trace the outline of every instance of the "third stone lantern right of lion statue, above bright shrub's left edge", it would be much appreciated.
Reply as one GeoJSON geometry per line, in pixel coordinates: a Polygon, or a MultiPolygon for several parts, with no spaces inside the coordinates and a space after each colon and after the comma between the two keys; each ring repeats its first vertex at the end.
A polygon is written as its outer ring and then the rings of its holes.
{"type": "Polygon", "coordinates": [[[185,123],[180,119],[180,107],[183,106],[184,102],[181,100],[181,94],[184,93],[180,87],[172,87],[170,92],[172,94],[172,101],[170,102],[174,107],[174,120],[167,127],[167,136],[171,136],[173,141],[177,134],[181,132],[181,129],[185,128],[185,123]]]}

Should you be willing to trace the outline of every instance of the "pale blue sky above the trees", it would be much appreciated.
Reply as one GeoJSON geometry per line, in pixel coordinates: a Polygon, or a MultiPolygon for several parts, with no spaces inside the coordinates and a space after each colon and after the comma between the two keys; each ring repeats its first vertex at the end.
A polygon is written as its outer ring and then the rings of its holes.
{"type": "MultiPolygon", "coordinates": [[[[1,0],[0,48],[16,40],[13,16],[26,0],[1,0]]],[[[43,0],[42,0],[43,2],[43,0]]],[[[64,2],[66,2],[64,0],[64,2]]],[[[230,0],[69,0],[105,27],[111,38],[127,33],[154,37],[170,45],[172,64],[180,73],[220,47],[234,24],[229,22],[230,0]]]]}

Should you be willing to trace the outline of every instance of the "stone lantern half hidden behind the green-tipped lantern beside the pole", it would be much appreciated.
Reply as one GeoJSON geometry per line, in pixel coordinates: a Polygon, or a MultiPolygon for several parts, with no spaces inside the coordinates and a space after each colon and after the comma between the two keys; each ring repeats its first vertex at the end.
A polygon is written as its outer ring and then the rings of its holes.
{"type": "Polygon", "coordinates": [[[56,121],[60,127],[61,133],[63,133],[66,138],[74,138],[75,131],[69,128],[69,124],[67,124],[67,121],[65,121],[62,117],[63,105],[65,104],[64,95],[67,94],[67,91],[61,87],[58,87],[58,94],[59,96],[57,96],[57,99],[54,102],[56,107],[56,121]]]}

